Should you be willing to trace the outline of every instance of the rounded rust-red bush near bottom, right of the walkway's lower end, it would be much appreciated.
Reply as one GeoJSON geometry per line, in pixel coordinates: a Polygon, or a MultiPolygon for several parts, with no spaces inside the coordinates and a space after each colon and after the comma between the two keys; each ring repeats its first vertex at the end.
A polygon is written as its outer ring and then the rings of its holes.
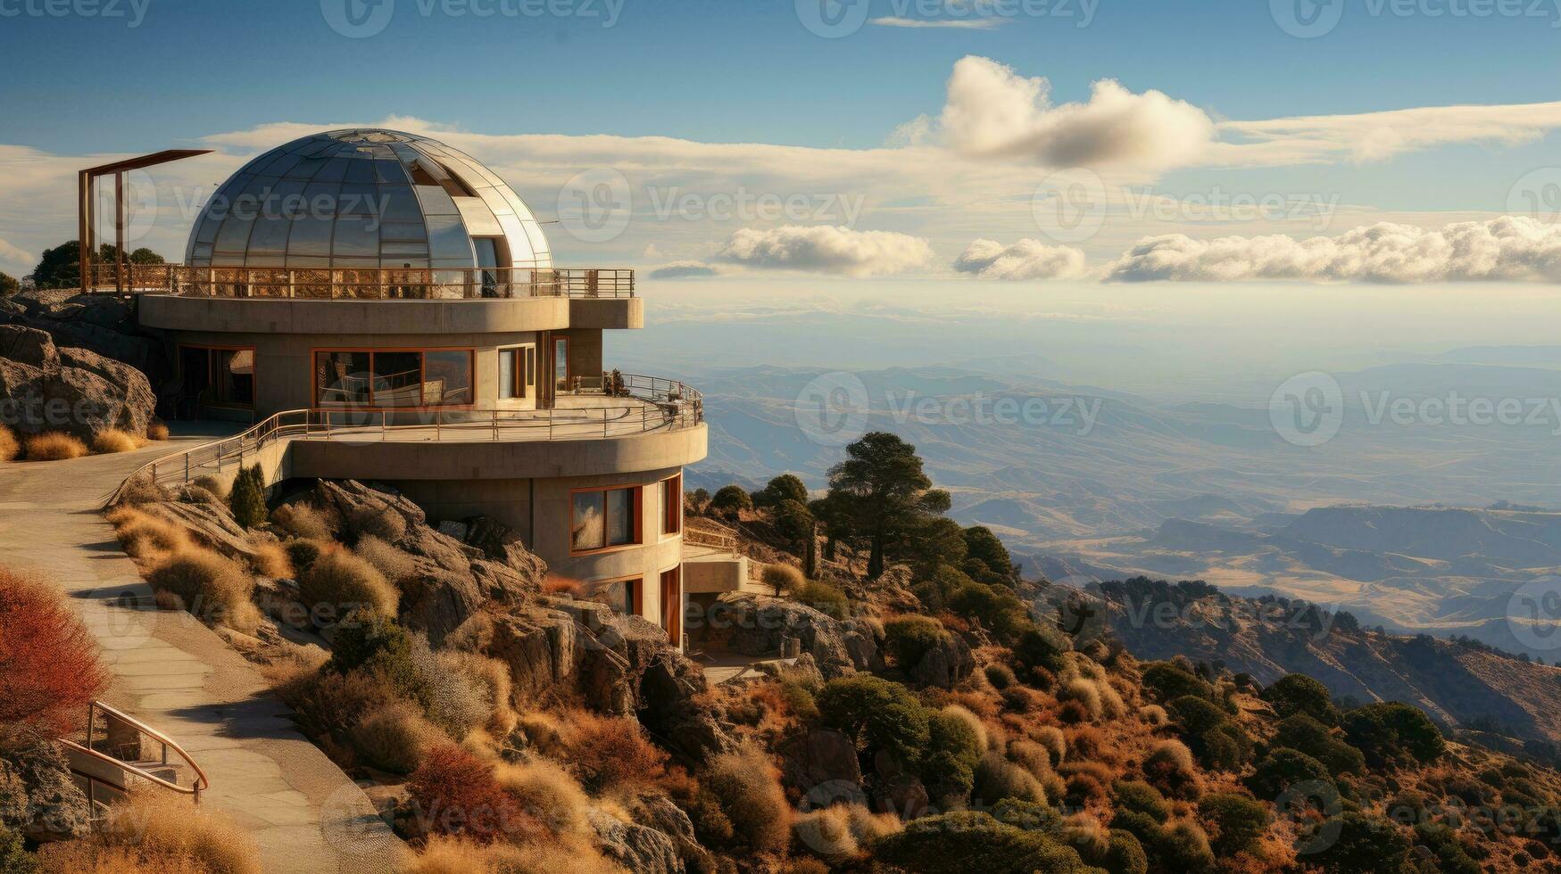
{"type": "Polygon", "coordinates": [[[520,808],[493,777],[493,768],[446,743],[429,749],[407,782],[428,830],[493,843],[517,829],[520,808]]]}

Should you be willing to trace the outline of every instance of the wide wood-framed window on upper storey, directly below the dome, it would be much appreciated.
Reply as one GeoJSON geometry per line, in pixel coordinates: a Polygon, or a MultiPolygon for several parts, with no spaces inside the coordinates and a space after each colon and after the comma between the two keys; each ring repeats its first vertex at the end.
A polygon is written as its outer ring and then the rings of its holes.
{"type": "Polygon", "coordinates": [[[317,407],[460,407],[473,401],[473,350],[315,350],[317,407]]]}

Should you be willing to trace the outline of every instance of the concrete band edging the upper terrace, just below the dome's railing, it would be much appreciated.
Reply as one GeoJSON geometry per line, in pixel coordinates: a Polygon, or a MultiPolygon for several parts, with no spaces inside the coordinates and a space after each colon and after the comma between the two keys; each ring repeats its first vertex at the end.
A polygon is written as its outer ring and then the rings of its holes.
{"type": "Polygon", "coordinates": [[[638,298],[571,300],[564,297],[503,300],[297,300],[142,295],[140,323],[165,331],[234,334],[506,334],[564,331],[576,312],[613,325],[640,328],[638,298]],[[576,311],[573,304],[590,306],[576,311]],[[617,307],[610,306],[617,304],[617,307]],[[626,306],[635,304],[635,306],[626,306]]]}

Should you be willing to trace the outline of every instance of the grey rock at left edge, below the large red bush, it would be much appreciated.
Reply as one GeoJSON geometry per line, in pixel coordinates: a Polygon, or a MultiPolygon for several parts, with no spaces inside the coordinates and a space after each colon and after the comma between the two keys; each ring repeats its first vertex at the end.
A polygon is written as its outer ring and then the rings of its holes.
{"type": "Polygon", "coordinates": [[[52,743],[25,743],[0,755],[0,826],[44,843],[86,835],[89,819],[87,798],[52,743]]]}

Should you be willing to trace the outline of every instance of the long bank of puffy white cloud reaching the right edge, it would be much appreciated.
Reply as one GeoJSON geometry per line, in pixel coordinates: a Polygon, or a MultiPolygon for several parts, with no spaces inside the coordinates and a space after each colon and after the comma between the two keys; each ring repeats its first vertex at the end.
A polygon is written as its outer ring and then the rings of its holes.
{"type": "Polygon", "coordinates": [[[1380,222],[1336,237],[1282,234],[1194,240],[1147,237],[1107,268],[1107,281],[1363,282],[1561,281],[1561,226],[1528,217],[1441,229],[1380,222]]]}

